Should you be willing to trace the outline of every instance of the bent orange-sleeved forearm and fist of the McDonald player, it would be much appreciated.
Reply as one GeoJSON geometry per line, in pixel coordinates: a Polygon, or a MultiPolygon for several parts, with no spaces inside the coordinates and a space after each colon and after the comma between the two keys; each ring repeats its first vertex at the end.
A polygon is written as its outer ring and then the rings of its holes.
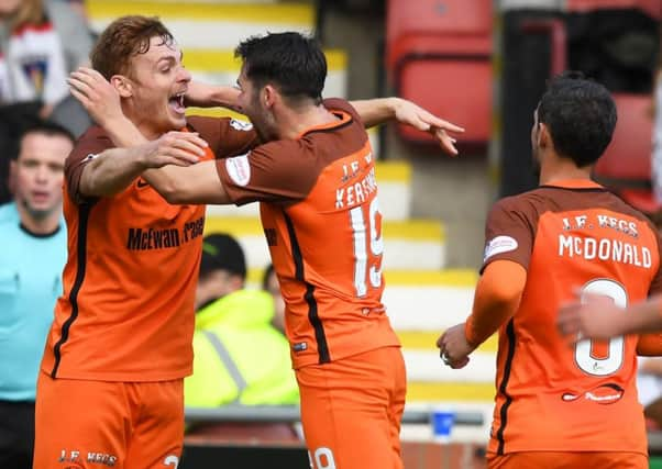
{"type": "Polygon", "coordinates": [[[445,365],[463,368],[468,364],[468,355],[515,314],[526,282],[527,271],[511,260],[495,260],[485,268],[471,315],[437,340],[445,365]]]}

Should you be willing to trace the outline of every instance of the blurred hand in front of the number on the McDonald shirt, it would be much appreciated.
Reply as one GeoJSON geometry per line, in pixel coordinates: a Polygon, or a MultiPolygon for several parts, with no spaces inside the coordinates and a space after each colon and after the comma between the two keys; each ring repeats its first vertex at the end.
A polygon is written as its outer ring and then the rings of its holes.
{"type": "Polygon", "coordinates": [[[584,294],[582,301],[560,308],[556,328],[571,344],[585,338],[608,339],[621,334],[625,319],[626,314],[613,300],[584,294]]]}

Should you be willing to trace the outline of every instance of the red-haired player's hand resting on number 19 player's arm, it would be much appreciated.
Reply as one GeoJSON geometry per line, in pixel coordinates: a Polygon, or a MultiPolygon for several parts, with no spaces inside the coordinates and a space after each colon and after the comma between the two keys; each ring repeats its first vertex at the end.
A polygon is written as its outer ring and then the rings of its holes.
{"type": "Polygon", "coordinates": [[[145,168],[161,168],[166,165],[190,166],[205,155],[207,142],[194,132],[168,132],[159,138],[139,147],[140,158],[145,168]]]}

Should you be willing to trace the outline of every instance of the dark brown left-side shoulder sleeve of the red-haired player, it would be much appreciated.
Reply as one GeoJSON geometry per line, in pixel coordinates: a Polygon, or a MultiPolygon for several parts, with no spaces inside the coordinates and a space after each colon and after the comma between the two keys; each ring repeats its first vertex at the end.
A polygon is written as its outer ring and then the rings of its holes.
{"type": "Polygon", "coordinates": [[[89,202],[95,198],[80,193],[80,176],[85,165],[95,159],[100,153],[114,145],[100,127],[87,131],[76,143],[76,146],[65,161],[65,183],[69,198],[77,204],[89,202]]]}

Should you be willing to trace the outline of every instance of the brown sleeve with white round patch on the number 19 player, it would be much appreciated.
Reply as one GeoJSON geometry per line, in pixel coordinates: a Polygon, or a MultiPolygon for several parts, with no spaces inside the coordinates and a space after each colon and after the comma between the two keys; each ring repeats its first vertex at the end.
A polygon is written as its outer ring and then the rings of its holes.
{"type": "Polygon", "coordinates": [[[238,205],[250,202],[295,203],[305,199],[318,177],[315,152],[305,141],[276,141],[246,155],[217,160],[223,188],[238,205]]]}

